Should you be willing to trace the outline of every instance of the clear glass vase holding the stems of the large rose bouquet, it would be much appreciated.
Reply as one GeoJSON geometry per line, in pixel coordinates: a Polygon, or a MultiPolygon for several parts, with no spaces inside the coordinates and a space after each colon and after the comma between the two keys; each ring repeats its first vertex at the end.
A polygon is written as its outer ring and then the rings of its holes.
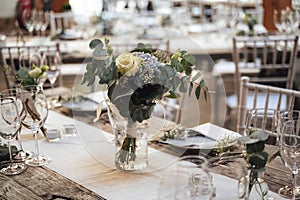
{"type": "Polygon", "coordinates": [[[107,109],[115,141],[115,166],[121,170],[141,170],[148,166],[147,134],[139,123],[129,123],[114,104],[107,109]]]}

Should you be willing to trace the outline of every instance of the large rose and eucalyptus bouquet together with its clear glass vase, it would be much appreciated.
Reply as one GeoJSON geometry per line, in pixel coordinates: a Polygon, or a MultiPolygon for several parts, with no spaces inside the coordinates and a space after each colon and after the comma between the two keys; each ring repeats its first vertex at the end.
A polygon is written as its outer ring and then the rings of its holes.
{"type": "MultiPolygon", "coordinates": [[[[186,51],[174,54],[137,44],[130,52],[114,56],[107,38],[89,44],[93,58],[86,65],[82,84],[97,80],[107,86],[110,122],[115,134],[115,163],[118,169],[143,169],[148,165],[147,137],[138,124],[151,118],[154,106],[163,98],[179,98],[193,91],[206,97],[204,80],[192,73],[195,58],[186,51]]],[[[98,113],[99,115],[99,113],[98,113]]]]}

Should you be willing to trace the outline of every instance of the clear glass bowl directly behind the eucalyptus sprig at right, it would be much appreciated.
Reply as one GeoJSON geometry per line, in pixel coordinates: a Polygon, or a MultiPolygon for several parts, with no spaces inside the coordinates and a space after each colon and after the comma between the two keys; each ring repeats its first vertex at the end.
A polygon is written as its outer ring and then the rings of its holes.
{"type": "Polygon", "coordinates": [[[279,111],[275,109],[257,108],[248,112],[246,120],[246,135],[256,130],[269,133],[267,144],[278,145],[279,134],[277,133],[279,111]]]}

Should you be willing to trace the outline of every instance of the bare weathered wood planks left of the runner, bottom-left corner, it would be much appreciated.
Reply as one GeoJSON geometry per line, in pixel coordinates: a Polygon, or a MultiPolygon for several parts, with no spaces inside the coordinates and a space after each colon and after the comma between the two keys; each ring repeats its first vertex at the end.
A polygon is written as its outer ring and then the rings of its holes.
{"type": "Polygon", "coordinates": [[[47,167],[28,167],[22,174],[0,174],[1,200],[105,199],[47,167]]]}

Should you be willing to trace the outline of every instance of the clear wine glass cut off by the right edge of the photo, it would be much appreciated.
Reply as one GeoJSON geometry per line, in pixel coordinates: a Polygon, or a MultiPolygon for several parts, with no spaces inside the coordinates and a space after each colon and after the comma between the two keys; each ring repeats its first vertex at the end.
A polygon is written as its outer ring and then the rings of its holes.
{"type": "Polygon", "coordinates": [[[296,199],[298,196],[296,175],[300,166],[300,118],[283,123],[279,144],[281,159],[285,166],[292,171],[292,199],[296,199]]]}

